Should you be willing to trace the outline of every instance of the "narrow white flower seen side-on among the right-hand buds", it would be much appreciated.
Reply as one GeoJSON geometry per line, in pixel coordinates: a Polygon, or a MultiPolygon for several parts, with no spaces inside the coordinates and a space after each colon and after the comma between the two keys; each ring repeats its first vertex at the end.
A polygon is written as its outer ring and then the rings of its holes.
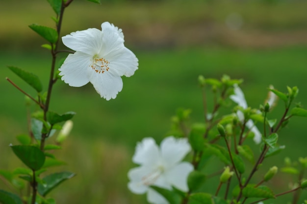
{"type": "MultiPolygon", "coordinates": [[[[234,85],[234,94],[230,95],[230,99],[237,103],[238,106],[241,106],[243,109],[248,108],[244,93],[237,84],[234,85]]],[[[237,116],[241,122],[244,122],[244,114],[241,111],[237,111],[237,116]]],[[[261,142],[262,136],[258,128],[255,126],[253,120],[249,119],[245,125],[251,130],[251,132],[254,133],[254,141],[256,144],[259,144],[261,142]]]]}

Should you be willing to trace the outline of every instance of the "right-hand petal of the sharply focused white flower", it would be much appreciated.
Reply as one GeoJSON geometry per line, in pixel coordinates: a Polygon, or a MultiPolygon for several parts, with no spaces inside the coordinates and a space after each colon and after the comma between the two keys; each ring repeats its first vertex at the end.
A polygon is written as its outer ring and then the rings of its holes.
{"type": "Polygon", "coordinates": [[[123,47],[118,52],[109,52],[104,56],[109,64],[109,71],[119,76],[131,76],[134,71],[138,68],[138,59],[131,50],[123,47]]]}

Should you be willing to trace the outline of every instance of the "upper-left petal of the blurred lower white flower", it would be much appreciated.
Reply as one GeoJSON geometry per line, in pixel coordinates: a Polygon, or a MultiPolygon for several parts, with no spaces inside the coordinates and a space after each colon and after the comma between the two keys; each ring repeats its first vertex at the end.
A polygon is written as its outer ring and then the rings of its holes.
{"type": "Polygon", "coordinates": [[[137,144],[132,160],[134,163],[148,166],[156,166],[159,163],[159,148],[152,137],[146,137],[137,144]]]}

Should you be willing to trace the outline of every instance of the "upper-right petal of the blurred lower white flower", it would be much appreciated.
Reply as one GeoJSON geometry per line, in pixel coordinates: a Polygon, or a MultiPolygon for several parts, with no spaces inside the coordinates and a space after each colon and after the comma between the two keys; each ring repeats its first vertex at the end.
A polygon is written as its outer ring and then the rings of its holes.
{"type": "Polygon", "coordinates": [[[166,137],[161,142],[161,154],[166,167],[173,166],[181,161],[191,151],[191,146],[186,138],[176,139],[173,136],[166,137]]]}

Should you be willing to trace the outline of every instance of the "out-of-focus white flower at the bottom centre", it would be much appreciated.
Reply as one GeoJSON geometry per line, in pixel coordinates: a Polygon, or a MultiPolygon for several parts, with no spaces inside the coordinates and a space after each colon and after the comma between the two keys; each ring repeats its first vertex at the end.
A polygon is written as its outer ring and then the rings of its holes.
{"type": "Polygon", "coordinates": [[[168,204],[159,193],[150,188],[155,185],[171,190],[175,186],[187,192],[187,177],[193,165],[181,160],[191,151],[186,138],[166,137],[160,148],[151,137],[144,138],[136,146],[133,162],[141,166],[128,172],[128,188],[136,194],[147,192],[147,200],[153,204],[168,204]]]}

